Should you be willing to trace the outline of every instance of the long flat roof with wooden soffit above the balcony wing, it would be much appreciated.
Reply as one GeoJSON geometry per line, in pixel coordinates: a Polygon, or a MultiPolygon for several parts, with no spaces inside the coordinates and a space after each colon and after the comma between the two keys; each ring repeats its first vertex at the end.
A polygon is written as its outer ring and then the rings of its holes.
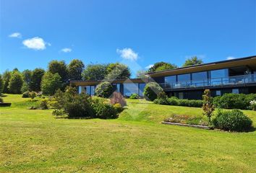
{"type": "Polygon", "coordinates": [[[174,68],[170,70],[149,72],[147,73],[147,75],[151,77],[158,77],[158,76],[167,76],[167,75],[176,75],[176,74],[187,74],[187,73],[199,72],[199,71],[216,70],[221,68],[231,68],[231,67],[237,67],[237,66],[248,66],[250,68],[256,69],[256,56],[235,58],[235,59],[226,60],[226,61],[202,63],[195,66],[187,66],[187,67],[174,68]]]}

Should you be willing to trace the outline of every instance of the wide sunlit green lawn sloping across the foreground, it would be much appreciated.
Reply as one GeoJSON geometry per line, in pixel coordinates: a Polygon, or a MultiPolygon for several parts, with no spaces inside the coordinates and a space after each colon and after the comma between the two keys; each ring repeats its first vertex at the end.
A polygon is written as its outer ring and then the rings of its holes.
{"type": "MultiPolygon", "coordinates": [[[[256,172],[256,132],[161,125],[200,108],[127,100],[116,120],[56,119],[7,95],[0,107],[0,172],[256,172]]],[[[256,126],[256,113],[244,111],[256,126]]]]}

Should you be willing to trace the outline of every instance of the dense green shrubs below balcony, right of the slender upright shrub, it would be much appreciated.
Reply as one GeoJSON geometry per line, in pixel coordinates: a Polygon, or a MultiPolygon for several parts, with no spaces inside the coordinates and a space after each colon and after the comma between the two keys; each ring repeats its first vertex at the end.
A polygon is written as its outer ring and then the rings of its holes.
{"type": "Polygon", "coordinates": [[[223,94],[215,97],[213,103],[216,107],[225,109],[251,109],[249,102],[256,99],[256,94],[223,94]]]}

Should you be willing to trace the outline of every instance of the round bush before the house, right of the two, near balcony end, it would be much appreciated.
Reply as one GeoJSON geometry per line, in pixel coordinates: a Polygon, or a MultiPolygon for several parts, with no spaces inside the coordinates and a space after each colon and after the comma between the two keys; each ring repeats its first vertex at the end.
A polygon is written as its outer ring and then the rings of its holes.
{"type": "Polygon", "coordinates": [[[163,89],[161,88],[161,86],[158,83],[149,82],[148,84],[146,84],[146,86],[144,88],[143,95],[144,95],[145,99],[153,101],[154,99],[157,98],[157,96],[160,92],[163,92],[163,89]]]}

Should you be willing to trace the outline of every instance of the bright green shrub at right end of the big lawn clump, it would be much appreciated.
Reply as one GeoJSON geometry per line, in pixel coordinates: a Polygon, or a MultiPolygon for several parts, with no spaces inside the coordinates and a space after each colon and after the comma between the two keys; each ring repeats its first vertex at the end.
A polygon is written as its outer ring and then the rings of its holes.
{"type": "Polygon", "coordinates": [[[110,105],[101,98],[94,98],[92,101],[93,112],[95,117],[101,119],[116,118],[117,112],[113,105],[110,105]]]}

